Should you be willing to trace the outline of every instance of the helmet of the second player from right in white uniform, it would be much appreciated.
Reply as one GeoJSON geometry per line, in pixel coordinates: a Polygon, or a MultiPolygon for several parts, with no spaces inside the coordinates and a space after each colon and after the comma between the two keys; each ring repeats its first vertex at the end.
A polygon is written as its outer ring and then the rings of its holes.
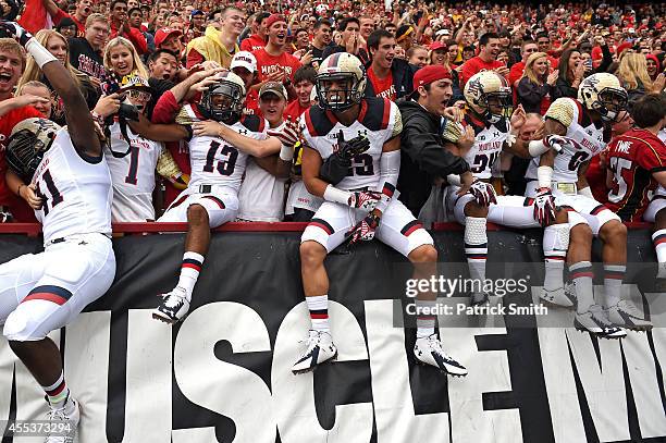
{"type": "Polygon", "coordinates": [[[511,88],[506,78],[494,71],[472,75],[465,85],[464,95],[469,108],[485,122],[495,124],[511,115],[511,88]]]}

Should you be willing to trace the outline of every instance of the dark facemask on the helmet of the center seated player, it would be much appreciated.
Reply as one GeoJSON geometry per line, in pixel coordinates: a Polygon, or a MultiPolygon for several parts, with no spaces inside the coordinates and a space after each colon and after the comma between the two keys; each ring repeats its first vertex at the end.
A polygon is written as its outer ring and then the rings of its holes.
{"type": "Polygon", "coordinates": [[[319,106],[332,111],[344,111],[360,102],[363,91],[354,73],[319,74],[314,79],[319,106]],[[331,88],[335,83],[335,88],[331,88]]]}

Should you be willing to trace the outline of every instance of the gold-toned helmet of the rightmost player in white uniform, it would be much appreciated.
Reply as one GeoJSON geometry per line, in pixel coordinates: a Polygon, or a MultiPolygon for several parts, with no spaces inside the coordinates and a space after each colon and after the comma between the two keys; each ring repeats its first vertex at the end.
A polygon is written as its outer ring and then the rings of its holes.
{"type": "Polygon", "coordinates": [[[596,111],[607,122],[617,121],[627,109],[628,95],[619,79],[608,73],[592,74],[578,88],[578,100],[590,111],[596,111]]]}

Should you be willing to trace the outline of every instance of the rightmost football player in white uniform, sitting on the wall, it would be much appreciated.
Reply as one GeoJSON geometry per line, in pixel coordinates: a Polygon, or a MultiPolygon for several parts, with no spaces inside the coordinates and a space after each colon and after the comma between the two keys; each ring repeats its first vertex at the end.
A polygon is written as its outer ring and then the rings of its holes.
{"type": "MultiPolygon", "coordinates": [[[[599,336],[619,339],[626,332],[608,320],[608,310],[620,302],[627,263],[627,227],[620,218],[594,200],[585,180],[590,159],[608,141],[607,124],[627,104],[627,91],[613,74],[593,74],[582,81],[578,99],[555,100],[545,114],[545,133],[559,139],[559,153],[552,150],[530,164],[526,195],[553,193],[556,204],[569,210],[571,244],[568,251],[570,278],[577,297],[576,327],[599,336]],[[552,190],[551,190],[552,189],[552,190]],[[591,262],[592,236],[602,239],[604,306],[594,303],[591,262]]],[[[548,137],[548,135],[546,135],[548,137]]]]}

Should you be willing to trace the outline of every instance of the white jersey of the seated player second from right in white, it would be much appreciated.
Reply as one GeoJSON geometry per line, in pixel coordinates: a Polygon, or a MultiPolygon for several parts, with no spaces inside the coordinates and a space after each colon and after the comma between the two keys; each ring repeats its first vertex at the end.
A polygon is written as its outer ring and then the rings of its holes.
{"type": "Polygon", "coordinates": [[[466,118],[462,126],[468,125],[471,125],[474,130],[476,137],[474,144],[465,155],[465,160],[477,179],[490,179],[493,173],[493,165],[497,163],[504,143],[508,138],[509,122],[505,119],[496,125],[478,126],[469,118],[466,118]]]}

